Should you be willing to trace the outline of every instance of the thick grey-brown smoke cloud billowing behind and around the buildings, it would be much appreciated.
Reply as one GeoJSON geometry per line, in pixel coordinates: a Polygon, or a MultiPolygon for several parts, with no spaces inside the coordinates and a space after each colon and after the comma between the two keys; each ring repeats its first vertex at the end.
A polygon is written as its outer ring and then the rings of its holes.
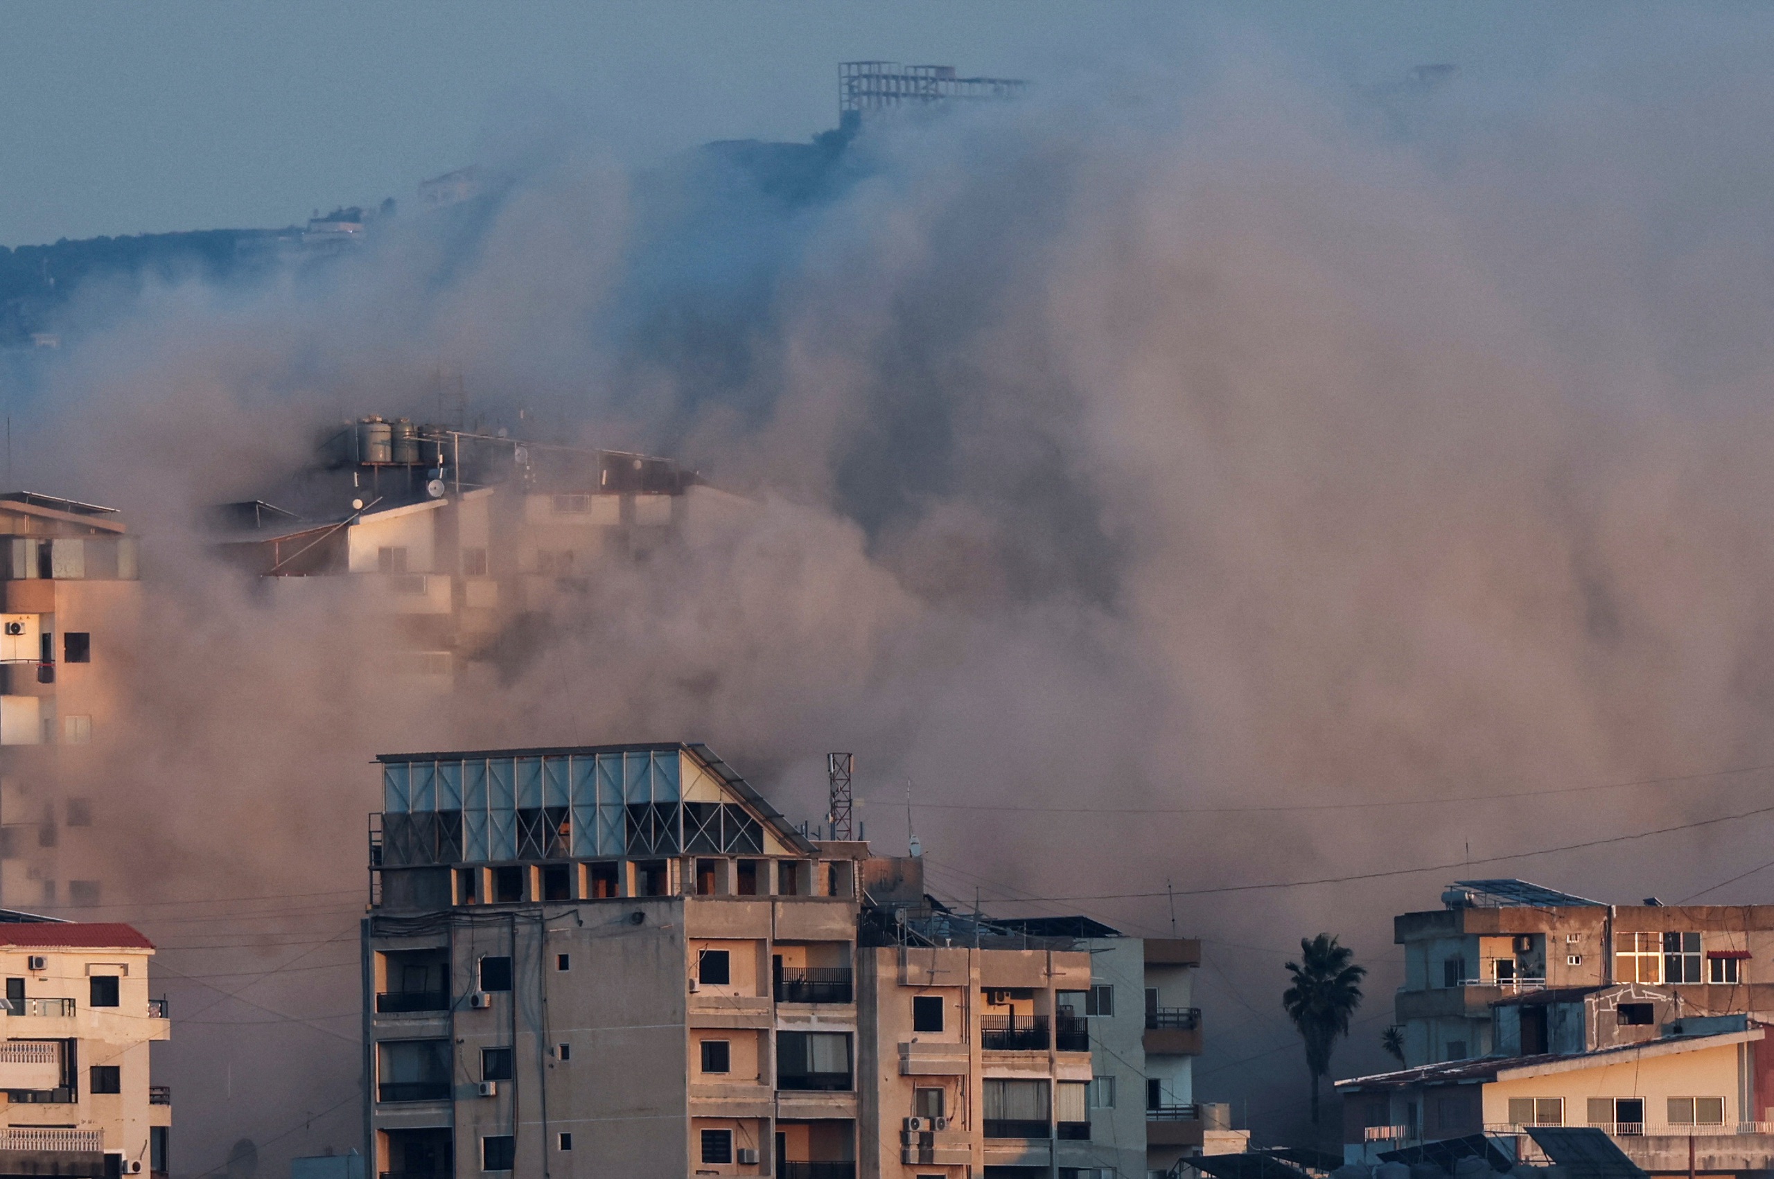
{"type": "Polygon", "coordinates": [[[951,899],[1174,906],[1208,940],[1197,1097],[1267,1138],[1304,1110],[1300,934],[1373,968],[1355,1071],[1389,917],[1462,863],[1614,901],[1754,867],[1765,816],[1495,858],[1763,805],[1767,775],[1575,787],[1774,762],[1774,94],[1728,50],[1769,32],[1378,90],[1228,55],[1187,98],[876,124],[812,181],[568,137],[472,218],[145,296],[20,445],[149,535],[106,798],[149,869],[117,915],[215,1002],[169,1050],[181,1170],[351,1142],[387,748],[703,739],[797,817],[855,750],[869,837],[903,849],[910,778],[951,899]],[[369,624],[224,576],[192,519],[319,422],[428,417],[438,369],[757,507],[608,569],[502,677],[401,699],[369,624]],[[1213,892],[1322,878],[1357,879],[1213,892]]]}

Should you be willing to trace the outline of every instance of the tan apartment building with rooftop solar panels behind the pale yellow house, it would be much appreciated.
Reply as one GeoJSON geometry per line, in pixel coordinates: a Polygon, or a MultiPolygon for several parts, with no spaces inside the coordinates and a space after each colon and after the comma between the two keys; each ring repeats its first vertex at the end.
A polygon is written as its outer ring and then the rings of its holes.
{"type": "Polygon", "coordinates": [[[1455,881],[1393,920],[1405,1064],[1487,1057],[1492,1007],[1535,991],[1669,988],[1689,1016],[1774,1012],[1774,906],[1604,904],[1519,879],[1455,881]],[[1763,966],[1756,966],[1756,963],[1763,966]]]}

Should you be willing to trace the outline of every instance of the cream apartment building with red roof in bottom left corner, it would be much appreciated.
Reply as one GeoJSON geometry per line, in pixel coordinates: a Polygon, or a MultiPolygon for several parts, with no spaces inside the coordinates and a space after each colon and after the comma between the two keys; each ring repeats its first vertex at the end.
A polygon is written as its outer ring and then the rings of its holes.
{"type": "Polygon", "coordinates": [[[0,911],[0,1174],[108,1179],[169,1172],[172,1099],[151,1050],[153,943],[130,925],[0,911]]]}

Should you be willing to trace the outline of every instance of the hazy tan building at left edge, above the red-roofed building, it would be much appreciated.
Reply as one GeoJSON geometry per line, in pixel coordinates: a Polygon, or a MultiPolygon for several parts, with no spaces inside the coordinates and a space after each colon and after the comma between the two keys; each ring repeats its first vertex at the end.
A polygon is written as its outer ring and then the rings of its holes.
{"type": "Polygon", "coordinates": [[[138,566],[114,509],[0,495],[0,904],[99,902],[78,867],[99,803],[69,782],[117,738],[138,566]]]}

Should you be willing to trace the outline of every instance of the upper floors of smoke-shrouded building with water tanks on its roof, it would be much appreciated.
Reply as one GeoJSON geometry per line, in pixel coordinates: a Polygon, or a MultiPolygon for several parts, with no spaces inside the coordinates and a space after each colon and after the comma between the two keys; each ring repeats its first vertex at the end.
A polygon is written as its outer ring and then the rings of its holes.
{"type": "Polygon", "coordinates": [[[438,688],[610,562],[681,535],[692,507],[742,504],[671,459],[380,417],[328,438],[312,468],[266,495],[279,504],[218,509],[222,551],[282,597],[389,619],[389,672],[438,688]]]}

